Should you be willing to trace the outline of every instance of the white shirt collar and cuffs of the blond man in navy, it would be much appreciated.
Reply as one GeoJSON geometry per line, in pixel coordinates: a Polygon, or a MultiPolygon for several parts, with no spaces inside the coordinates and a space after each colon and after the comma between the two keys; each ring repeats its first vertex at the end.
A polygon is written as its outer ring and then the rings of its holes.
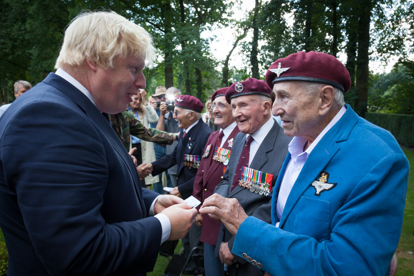
{"type": "MultiPolygon", "coordinates": [[[[82,84],[79,83],[79,81],[74,79],[71,75],[69,75],[67,72],[65,72],[61,68],[58,68],[58,70],[56,70],[55,74],[62,77],[63,79],[68,81],[70,84],[75,86],[77,89],[79,89],[79,91],[81,91],[95,106],[97,106],[96,103],[95,103],[95,99],[92,97],[92,95],[89,93],[89,91],[82,84]]],[[[154,215],[154,205],[155,205],[155,202],[157,201],[158,197],[156,197],[155,200],[151,204],[151,208],[150,208],[150,214],[151,215],[154,215]]],[[[154,217],[156,217],[161,223],[161,228],[162,228],[161,244],[162,244],[163,242],[168,240],[168,238],[170,237],[171,222],[170,222],[169,218],[164,214],[156,214],[154,217]]]]}

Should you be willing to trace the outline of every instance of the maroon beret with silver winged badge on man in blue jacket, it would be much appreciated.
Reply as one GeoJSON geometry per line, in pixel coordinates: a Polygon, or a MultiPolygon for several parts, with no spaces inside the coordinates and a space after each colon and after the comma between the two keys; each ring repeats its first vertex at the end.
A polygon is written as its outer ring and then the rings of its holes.
{"type": "Polygon", "coordinates": [[[343,93],[351,87],[351,78],[345,66],[334,56],[325,53],[299,52],[278,59],[266,72],[269,87],[278,81],[301,80],[332,85],[343,93]]]}

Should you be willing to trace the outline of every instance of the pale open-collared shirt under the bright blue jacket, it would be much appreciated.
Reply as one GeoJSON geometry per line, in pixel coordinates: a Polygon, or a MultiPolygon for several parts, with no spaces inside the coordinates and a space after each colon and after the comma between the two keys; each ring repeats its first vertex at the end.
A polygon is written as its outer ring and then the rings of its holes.
{"type": "MultiPolygon", "coordinates": [[[[278,220],[282,217],[290,191],[292,190],[299,173],[302,171],[303,165],[305,164],[310,152],[316,147],[322,137],[324,137],[324,135],[339,121],[339,119],[341,119],[345,112],[346,108],[343,106],[324,128],[324,130],[317,135],[316,139],[312,142],[312,144],[310,144],[306,151],[303,151],[303,147],[306,145],[307,140],[303,137],[295,136],[289,143],[288,150],[291,154],[291,159],[286,166],[281,182],[281,188],[279,190],[278,202],[276,204],[276,214],[278,215],[278,220]]],[[[279,222],[277,222],[275,226],[279,227],[279,222]]]]}

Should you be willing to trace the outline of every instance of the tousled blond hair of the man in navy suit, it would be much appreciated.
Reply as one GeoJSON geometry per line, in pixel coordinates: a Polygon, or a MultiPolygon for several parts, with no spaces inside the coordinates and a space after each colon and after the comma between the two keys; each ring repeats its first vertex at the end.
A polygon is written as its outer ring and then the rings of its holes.
{"type": "Polygon", "coordinates": [[[143,57],[155,60],[150,34],[115,12],[86,11],[76,16],[65,31],[55,68],[79,66],[85,59],[105,69],[114,68],[116,58],[143,57]]]}

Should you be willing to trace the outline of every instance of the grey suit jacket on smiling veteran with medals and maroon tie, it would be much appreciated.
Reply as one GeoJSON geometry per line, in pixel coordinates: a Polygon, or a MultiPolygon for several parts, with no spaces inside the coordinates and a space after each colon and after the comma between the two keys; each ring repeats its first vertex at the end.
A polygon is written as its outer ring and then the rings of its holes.
{"type": "MultiPolygon", "coordinates": [[[[274,119],[272,119],[274,120],[274,119]]],[[[283,128],[274,121],[272,128],[267,133],[265,139],[257,150],[250,168],[267,172],[273,175],[272,186],[273,190],[274,183],[278,178],[279,172],[282,168],[285,157],[288,153],[288,145],[291,141],[291,137],[288,137],[283,132],[283,128]]],[[[214,192],[220,196],[226,198],[236,198],[240,205],[242,205],[246,214],[249,216],[255,216],[267,223],[271,223],[271,192],[270,196],[263,196],[256,193],[250,192],[246,188],[237,186],[233,191],[232,183],[236,173],[237,163],[242,153],[244,144],[246,143],[246,134],[239,132],[236,135],[232,154],[228,161],[227,170],[223,175],[223,180],[217,185],[214,192]],[[259,208],[260,207],[260,208],[259,208]]],[[[215,249],[215,255],[218,256],[219,247],[222,242],[228,242],[230,250],[233,248],[234,237],[227,231],[223,224],[220,226],[218,233],[217,244],[215,249]]],[[[250,263],[247,263],[243,258],[236,256],[236,259],[240,263],[238,275],[261,275],[259,269],[250,263]],[[260,273],[260,274],[259,274],[260,273]]],[[[229,272],[232,272],[232,267],[229,272]]],[[[232,274],[232,273],[231,273],[232,274]]]]}

